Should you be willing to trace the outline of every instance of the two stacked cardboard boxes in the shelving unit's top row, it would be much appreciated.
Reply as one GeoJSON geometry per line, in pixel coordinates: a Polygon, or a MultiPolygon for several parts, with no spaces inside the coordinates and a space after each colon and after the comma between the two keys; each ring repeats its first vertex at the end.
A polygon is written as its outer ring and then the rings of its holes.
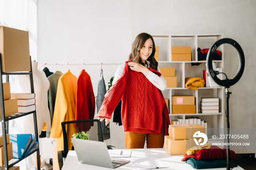
{"type": "Polygon", "coordinates": [[[172,61],[191,61],[191,47],[172,46],[172,61]]]}

